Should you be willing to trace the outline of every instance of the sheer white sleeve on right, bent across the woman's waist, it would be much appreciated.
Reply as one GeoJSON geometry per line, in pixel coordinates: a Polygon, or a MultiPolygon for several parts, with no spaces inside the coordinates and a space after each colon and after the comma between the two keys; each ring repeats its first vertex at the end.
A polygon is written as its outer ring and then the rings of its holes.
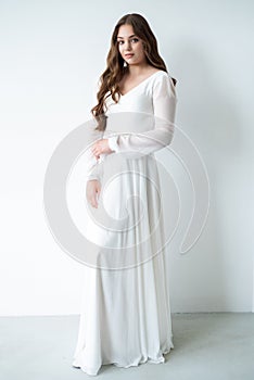
{"type": "Polygon", "coordinates": [[[175,131],[177,96],[168,75],[156,78],[152,91],[154,128],[142,134],[124,134],[109,138],[110,148],[116,153],[131,152],[131,156],[153,153],[168,145],[175,131]]]}

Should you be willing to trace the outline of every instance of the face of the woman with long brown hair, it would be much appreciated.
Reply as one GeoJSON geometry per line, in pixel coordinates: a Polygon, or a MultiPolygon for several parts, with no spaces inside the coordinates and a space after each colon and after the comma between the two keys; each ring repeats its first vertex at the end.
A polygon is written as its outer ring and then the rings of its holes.
{"type": "Polygon", "coordinates": [[[142,40],[135,35],[131,25],[122,25],[118,29],[119,53],[129,65],[139,65],[147,61],[142,40]]]}

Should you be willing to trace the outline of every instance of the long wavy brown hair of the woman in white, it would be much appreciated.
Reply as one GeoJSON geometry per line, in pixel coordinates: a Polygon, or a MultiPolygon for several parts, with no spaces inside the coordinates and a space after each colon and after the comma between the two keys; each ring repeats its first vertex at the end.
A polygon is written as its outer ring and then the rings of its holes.
{"type": "MultiPolygon", "coordinates": [[[[98,125],[97,130],[105,130],[106,128],[106,116],[105,116],[105,100],[107,97],[112,96],[112,99],[117,103],[120,97],[119,83],[126,72],[128,71],[128,65],[125,66],[125,61],[122,58],[118,43],[117,35],[119,27],[122,25],[131,25],[135,35],[140,38],[143,42],[144,54],[148,62],[167,73],[165,62],[158,54],[156,38],[149,26],[147,20],[137,13],[130,13],[124,15],[116,24],[114,31],[111,37],[111,48],[106,58],[106,69],[102,73],[100,77],[100,89],[97,93],[98,104],[91,109],[92,115],[96,117],[98,125]]],[[[173,83],[176,86],[177,80],[173,78],[173,83]]]]}

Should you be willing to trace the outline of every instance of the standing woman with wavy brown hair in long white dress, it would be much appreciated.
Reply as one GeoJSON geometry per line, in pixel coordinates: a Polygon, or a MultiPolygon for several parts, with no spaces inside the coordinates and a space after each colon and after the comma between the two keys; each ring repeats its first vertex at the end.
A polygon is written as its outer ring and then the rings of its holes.
{"type": "Polygon", "coordinates": [[[73,366],[88,375],[104,364],[163,363],[174,347],[154,152],[173,139],[175,85],[148,22],[123,16],[92,109],[103,138],[90,148],[86,195],[97,215],[105,205],[113,228],[105,228],[98,267],[85,266],[73,366]]]}

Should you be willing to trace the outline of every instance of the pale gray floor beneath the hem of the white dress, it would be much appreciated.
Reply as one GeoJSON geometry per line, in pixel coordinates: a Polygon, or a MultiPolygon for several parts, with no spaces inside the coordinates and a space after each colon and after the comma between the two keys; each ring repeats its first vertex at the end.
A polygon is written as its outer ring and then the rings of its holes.
{"type": "Polygon", "coordinates": [[[254,379],[254,314],[173,314],[175,349],[163,364],[102,366],[98,377],[72,367],[78,316],[0,317],[4,380],[254,379]]]}

